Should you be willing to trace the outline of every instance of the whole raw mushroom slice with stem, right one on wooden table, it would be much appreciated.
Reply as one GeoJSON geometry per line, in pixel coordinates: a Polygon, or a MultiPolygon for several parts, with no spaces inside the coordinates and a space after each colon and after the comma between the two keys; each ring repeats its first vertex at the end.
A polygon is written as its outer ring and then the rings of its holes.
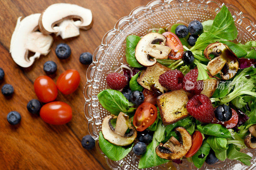
{"type": "Polygon", "coordinates": [[[46,8],[39,20],[41,32],[55,33],[62,39],[78,36],[79,28],[88,30],[91,27],[92,11],[76,4],[52,4],[46,8]],[[73,18],[80,20],[74,21],[73,18]]]}

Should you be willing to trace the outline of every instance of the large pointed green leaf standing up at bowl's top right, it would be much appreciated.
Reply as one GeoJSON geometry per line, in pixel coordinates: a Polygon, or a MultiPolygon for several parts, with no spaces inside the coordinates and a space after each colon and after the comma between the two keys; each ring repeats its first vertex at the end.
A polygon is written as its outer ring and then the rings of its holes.
{"type": "Polygon", "coordinates": [[[225,5],[223,5],[220,12],[213,20],[210,32],[223,39],[236,39],[238,32],[236,29],[234,18],[232,17],[231,13],[228,11],[228,8],[225,5]]]}

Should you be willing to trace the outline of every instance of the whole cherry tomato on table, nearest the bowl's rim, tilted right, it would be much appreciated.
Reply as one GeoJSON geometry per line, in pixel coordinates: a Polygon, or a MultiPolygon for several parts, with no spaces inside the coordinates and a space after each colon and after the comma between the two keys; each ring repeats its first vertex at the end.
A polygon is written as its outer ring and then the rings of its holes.
{"type": "Polygon", "coordinates": [[[80,83],[80,75],[76,70],[66,70],[57,80],[57,88],[64,95],[69,95],[76,91],[80,83]]]}

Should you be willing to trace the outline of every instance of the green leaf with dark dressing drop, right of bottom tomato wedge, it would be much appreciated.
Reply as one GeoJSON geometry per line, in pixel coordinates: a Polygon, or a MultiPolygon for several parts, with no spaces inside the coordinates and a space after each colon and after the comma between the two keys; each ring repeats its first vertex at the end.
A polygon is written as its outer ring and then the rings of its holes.
{"type": "Polygon", "coordinates": [[[196,154],[192,156],[193,163],[197,168],[200,169],[203,166],[204,161],[207,155],[209,154],[210,150],[210,145],[206,141],[204,141],[203,145],[199,148],[196,154]],[[204,157],[202,157],[202,155],[204,157]]]}

